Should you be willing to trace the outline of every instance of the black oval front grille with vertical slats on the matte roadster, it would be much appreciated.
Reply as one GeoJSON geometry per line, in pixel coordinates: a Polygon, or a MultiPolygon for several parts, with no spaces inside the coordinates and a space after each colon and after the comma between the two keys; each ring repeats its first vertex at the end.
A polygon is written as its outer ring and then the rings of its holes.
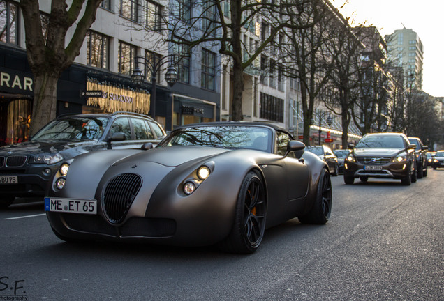
{"type": "Polygon", "coordinates": [[[142,186],[142,178],[134,173],[122,173],[105,187],[102,202],[112,224],[121,223],[142,186]]]}

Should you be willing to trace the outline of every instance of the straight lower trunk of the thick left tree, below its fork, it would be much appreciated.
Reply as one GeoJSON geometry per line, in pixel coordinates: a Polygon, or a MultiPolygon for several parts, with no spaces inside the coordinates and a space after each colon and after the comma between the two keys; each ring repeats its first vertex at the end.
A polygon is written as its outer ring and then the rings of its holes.
{"type": "Polygon", "coordinates": [[[59,77],[40,73],[34,77],[34,105],[31,118],[31,137],[56,117],[57,81],[59,77]]]}

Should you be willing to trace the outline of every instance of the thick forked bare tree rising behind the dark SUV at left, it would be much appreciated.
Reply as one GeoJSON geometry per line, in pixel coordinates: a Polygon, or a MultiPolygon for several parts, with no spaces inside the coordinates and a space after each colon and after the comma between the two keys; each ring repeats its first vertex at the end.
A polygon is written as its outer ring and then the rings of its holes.
{"type": "Polygon", "coordinates": [[[55,118],[57,81],[80,53],[102,0],[52,0],[49,18],[40,16],[36,0],[21,0],[27,56],[34,75],[31,135],[55,118]],[[67,2],[71,2],[68,7],[67,2]],[[47,23],[46,23],[47,22],[47,23]],[[73,29],[71,37],[67,36],[73,29]],[[68,38],[68,40],[67,40],[68,38]]]}

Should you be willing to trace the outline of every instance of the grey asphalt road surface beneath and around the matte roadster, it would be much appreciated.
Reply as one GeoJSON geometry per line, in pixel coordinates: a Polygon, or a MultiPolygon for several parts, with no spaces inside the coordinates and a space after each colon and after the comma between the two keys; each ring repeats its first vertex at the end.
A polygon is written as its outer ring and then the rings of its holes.
{"type": "Polygon", "coordinates": [[[68,244],[43,203],[13,204],[0,210],[0,300],[444,300],[444,170],[408,187],[332,183],[327,225],[292,219],[248,256],[68,244]]]}

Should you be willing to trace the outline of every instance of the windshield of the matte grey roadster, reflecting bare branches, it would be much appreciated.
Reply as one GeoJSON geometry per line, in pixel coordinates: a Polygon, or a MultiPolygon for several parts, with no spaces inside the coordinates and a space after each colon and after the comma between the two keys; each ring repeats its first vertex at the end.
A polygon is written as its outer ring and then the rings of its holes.
{"type": "Polygon", "coordinates": [[[199,126],[176,130],[157,147],[214,146],[219,148],[249,148],[272,152],[272,130],[258,126],[199,126]]]}

